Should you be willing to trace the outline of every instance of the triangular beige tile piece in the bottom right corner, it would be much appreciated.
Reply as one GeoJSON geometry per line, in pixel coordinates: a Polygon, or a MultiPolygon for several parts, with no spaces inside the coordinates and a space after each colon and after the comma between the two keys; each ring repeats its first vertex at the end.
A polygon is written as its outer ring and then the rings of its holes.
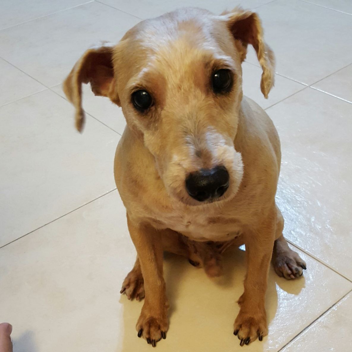
{"type": "Polygon", "coordinates": [[[282,352],[351,352],[352,294],[291,342],[282,352]]]}

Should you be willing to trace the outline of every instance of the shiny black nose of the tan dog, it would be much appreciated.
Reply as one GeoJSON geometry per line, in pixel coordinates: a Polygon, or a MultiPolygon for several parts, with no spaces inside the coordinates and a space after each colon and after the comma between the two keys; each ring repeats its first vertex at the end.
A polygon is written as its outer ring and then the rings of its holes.
{"type": "Polygon", "coordinates": [[[203,202],[209,198],[221,197],[228,188],[229,179],[225,166],[201,169],[188,175],[186,189],[192,198],[203,202]]]}

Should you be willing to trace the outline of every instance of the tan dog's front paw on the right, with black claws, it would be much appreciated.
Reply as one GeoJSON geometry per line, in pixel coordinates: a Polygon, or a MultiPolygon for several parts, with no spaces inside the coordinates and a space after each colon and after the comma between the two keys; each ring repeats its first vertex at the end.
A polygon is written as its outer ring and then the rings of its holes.
{"type": "Polygon", "coordinates": [[[241,308],[234,323],[233,334],[241,341],[240,346],[249,345],[257,338],[262,341],[268,335],[265,311],[254,315],[241,308]]]}

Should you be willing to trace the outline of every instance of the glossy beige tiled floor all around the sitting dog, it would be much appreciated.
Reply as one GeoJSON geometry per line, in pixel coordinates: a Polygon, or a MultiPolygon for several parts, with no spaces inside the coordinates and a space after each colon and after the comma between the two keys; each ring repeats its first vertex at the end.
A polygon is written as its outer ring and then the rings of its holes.
{"type": "MultiPolygon", "coordinates": [[[[307,261],[285,281],[271,270],[269,336],[247,351],[352,350],[352,1],[243,0],[277,57],[265,100],[253,53],[244,93],[266,108],[282,142],[277,200],[284,235],[307,261]]],[[[82,51],[117,41],[140,19],[180,6],[214,12],[230,0],[4,0],[0,11],[0,321],[14,352],[149,351],[140,302],[119,295],[135,250],[113,180],[120,109],[86,87],[88,121],[73,128],[59,85],[82,51]]],[[[241,350],[232,335],[244,252],[212,282],[165,257],[171,303],[165,352],[241,350]]]]}

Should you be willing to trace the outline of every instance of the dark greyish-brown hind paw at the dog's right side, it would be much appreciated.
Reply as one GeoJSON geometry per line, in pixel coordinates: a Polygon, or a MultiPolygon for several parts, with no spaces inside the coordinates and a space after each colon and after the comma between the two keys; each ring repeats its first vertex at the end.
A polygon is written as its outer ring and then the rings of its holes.
{"type": "Polygon", "coordinates": [[[294,251],[280,253],[272,262],[276,274],[288,280],[302,276],[303,270],[307,269],[306,262],[294,251]]]}

